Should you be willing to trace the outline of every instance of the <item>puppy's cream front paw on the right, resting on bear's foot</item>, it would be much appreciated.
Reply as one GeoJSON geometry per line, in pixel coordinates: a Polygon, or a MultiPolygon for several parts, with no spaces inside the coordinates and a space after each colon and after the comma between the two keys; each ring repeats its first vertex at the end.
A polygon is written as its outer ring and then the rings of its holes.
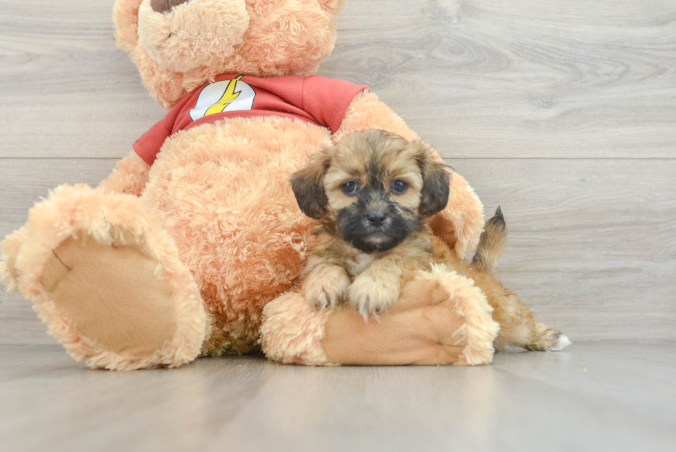
{"type": "Polygon", "coordinates": [[[368,320],[368,315],[378,316],[399,298],[399,284],[387,284],[382,279],[361,274],[348,288],[350,305],[368,320]]]}

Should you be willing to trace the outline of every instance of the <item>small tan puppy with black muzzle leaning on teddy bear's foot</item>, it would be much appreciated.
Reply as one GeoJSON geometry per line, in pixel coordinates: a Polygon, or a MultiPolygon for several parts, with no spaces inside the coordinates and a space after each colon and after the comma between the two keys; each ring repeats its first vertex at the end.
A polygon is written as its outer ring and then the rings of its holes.
{"type": "Polygon", "coordinates": [[[486,223],[472,264],[433,235],[428,219],[446,207],[450,177],[421,141],[383,130],[353,132],[313,155],[291,177],[301,210],[318,223],[303,285],[308,303],[326,308],[347,300],[366,321],[396,302],[416,273],[444,264],[486,294],[501,326],[498,348],[550,351],[570,344],[537,322],[495,278],[506,244],[499,208],[486,223]]]}

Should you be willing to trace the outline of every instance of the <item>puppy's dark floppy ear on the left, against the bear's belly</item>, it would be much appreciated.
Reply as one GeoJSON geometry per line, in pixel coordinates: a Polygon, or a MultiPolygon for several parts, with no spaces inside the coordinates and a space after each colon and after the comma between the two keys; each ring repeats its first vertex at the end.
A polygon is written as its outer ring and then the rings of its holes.
{"type": "Polygon", "coordinates": [[[291,175],[291,189],[301,211],[310,218],[326,215],[324,176],[330,165],[329,150],[324,148],[310,157],[310,164],[291,175]]]}

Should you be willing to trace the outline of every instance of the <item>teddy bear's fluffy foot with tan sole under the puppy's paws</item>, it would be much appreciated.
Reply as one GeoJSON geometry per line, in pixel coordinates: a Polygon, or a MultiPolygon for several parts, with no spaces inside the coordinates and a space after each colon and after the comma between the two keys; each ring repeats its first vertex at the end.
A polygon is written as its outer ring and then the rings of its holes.
{"type": "Polygon", "coordinates": [[[499,330],[492,311],[471,279],[436,266],[366,324],[349,306],[317,310],[299,293],[282,295],[265,308],[261,340],[270,359],[292,364],[488,364],[499,330]]]}

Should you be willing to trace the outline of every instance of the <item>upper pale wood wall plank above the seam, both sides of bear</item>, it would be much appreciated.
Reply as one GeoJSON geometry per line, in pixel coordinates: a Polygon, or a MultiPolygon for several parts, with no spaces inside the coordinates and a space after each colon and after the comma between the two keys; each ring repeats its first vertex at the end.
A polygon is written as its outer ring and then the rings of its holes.
{"type": "MultiPolygon", "coordinates": [[[[0,0],[0,157],[122,157],[163,117],[112,3],[0,0]]],[[[673,1],[352,0],[338,23],[319,73],[455,157],[676,157],[673,1]]]]}

